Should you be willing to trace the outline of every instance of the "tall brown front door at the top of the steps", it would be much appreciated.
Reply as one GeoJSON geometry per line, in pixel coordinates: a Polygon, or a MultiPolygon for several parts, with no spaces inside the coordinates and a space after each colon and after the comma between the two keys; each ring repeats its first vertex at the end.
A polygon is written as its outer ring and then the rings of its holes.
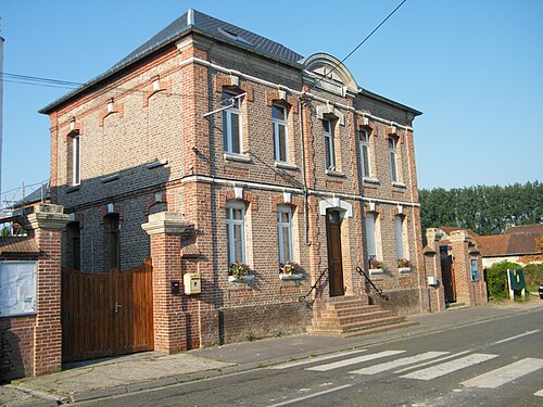
{"type": "Polygon", "coordinates": [[[326,213],[328,242],[328,275],[330,296],[343,295],[343,266],[341,264],[341,216],[338,211],[326,213]]]}

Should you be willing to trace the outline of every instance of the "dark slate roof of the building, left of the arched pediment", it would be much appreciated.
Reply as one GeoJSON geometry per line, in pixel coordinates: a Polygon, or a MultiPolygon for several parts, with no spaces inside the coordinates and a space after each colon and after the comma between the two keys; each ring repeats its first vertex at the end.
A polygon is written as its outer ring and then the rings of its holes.
{"type": "Polygon", "coordinates": [[[270,39],[261,37],[257,34],[248,31],[247,29],[223,22],[197,10],[189,9],[179,18],[174,21],[166,28],[122,59],[105,73],[41,109],[39,113],[47,114],[61,103],[67,101],[84,90],[96,86],[100,81],[131,65],[136,61],[150,55],[162,47],[177,41],[190,31],[200,33],[215,40],[231,43],[236,47],[247,49],[263,56],[301,67],[299,62],[303,60],[303,56],[289,48],[272,41],[270,39]]]}

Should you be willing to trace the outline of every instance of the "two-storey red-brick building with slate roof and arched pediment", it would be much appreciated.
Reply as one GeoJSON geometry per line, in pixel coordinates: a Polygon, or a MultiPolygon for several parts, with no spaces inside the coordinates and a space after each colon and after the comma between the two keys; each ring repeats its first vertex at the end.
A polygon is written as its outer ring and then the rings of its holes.
{"type": "Polygon", "coordinates": [[[316,329],[332,297],[376,301],[356,271],[370,256],[387,306],[428,308],[421,113],[363,89],[336,58],[189,10],[41,113],[52,202],[72,219],[63,263],[103,272],[151,257],[155,348],[316,329]],[[300,274],[279,274],[289,260],[300,274]],[[250,276],[229,276],[233,262],[250,276]],[[200,294],[184,293],[187,274],[200,294]]]}

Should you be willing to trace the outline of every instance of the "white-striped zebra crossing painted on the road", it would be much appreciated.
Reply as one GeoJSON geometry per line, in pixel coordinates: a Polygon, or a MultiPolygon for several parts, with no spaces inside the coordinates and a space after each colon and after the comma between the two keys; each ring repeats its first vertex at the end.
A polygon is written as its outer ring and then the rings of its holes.
{"type": "MultiPolygon", "coordinates": [[[[482,365],[489,360],[498,358],[500,355],[476,353],[464,351],[455,354],[450,352],[429,351],[411,356],[403,356],[407,351],[382,351],[372,354],[364,354],[366,349],[349,351],[332,355],[320,356],[293,363],[287,363],[270,367],[281,370],[291,367],[305,367],[306,371],[326,372],[333,369],[352,367],[354,365],[372,361],[371,365],[359,369],[350,370],[350,374],[372,376],[382,372],[392,372],[402,379],[433,380],[452,372],[482,365]],[[402,355],[403,357],[399,357],[402,355]],[[392,358],[382,361],[383,358],[392,358]],[[328,361],[332,360],[333,361],[328,361]]],[[[538,372],[543,368],[543,358],[526,357],[523,359],[502,366],[485,373],[476,376],[460,384],[465,387],[497,389],[507,383],[518,380],[530,373],[538,372]]],[[[534,396],[543,397],[543,389],[533,393],[534,396]]]]}

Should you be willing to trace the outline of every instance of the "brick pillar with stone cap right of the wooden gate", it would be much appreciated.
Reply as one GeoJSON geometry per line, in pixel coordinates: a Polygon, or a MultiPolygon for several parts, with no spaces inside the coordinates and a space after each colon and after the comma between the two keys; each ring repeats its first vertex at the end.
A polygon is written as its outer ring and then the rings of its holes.
{"type": "Polygon", "coordinates": [[[187,315],[181,294],[172,294],[172,281],[182,284],[181,240],[187,221],[180,213],[150,215],[141,227],[151,237],[153,262],[154,349],[168,354],[187,351],[187,315]]]}

